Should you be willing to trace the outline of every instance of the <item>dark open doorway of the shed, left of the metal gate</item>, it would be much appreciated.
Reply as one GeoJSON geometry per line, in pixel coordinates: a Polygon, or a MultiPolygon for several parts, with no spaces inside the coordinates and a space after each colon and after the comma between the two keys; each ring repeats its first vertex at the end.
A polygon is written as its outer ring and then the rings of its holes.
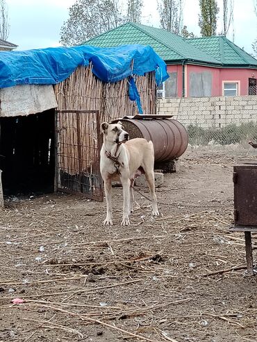
{"type": "Polygon", "coordinates": [[[54,190],[55,110],[0,118],[3,194],[47,194],[54,190]]]}

